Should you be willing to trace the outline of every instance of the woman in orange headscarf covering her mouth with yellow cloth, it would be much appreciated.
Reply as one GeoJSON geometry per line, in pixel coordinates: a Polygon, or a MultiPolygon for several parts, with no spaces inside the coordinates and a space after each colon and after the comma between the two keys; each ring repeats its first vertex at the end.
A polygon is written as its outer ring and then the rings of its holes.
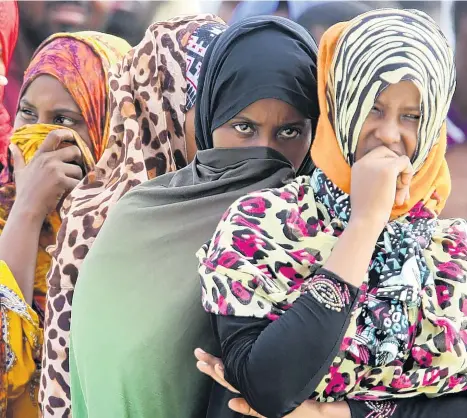
{"type": "Polygon", "coordinates": [[[109,138],[108,70],[130,49],[114,36],[56,34],[36,51],[20,93],[0,189],[0,417],[37,417],[46,274],[64,196],[109,138]],[[13,177],[14,174],[14,177],[13,177]]]}

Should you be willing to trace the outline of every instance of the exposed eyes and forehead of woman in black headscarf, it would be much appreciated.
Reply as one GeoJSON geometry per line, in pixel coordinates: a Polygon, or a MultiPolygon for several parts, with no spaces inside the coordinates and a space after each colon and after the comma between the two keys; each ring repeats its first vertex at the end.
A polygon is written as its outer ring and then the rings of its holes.
{"type": "Polygon", "coordinates": [[[215,148],[273,148],[298,169],[310,152],[311,120],[281,100],[262,99],[217,128],[212,136],[215,148]]]}

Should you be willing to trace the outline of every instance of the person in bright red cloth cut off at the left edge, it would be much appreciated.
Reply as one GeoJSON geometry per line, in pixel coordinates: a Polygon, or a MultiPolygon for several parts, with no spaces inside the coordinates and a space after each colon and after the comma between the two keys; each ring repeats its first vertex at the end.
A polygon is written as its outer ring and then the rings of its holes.
{"type": "Polygon", "coordinates": [[[18,39],[18,5],[16,1],[0,2],[0,184],[8,178],[8,145],[11,135],[11,118],[3,105],[6,76],[18,39]]]}

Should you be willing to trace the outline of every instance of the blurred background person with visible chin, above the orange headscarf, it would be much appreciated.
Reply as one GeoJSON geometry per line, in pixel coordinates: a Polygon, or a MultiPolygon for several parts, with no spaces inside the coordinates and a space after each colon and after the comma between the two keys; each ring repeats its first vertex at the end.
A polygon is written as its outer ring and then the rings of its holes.
{"type": "Polygon", "coordinates": [[[18,44],[5,88],[5,107],[14,117],[23,74],[36,48],[57,32],[102,30],[112,2],[106,1],[20,1],[18,44]]]}

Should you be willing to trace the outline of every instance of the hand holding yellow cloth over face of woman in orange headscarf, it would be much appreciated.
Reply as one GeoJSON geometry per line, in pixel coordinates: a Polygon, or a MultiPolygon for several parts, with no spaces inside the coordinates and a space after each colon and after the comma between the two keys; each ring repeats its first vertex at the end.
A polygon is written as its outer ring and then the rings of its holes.
{"type": "Polygon", "coordinates": [[[71,140],[73,135],[68,130],[50,132],[28,165],[20,149],[10,145],[16,183],[15,204],[27,208],[41,222],[56,209],[63,194],[74,189],[83,177],[81,167],[70,164],[81,161],[79,148],[76,145],[60,148],[71,140]]]}

